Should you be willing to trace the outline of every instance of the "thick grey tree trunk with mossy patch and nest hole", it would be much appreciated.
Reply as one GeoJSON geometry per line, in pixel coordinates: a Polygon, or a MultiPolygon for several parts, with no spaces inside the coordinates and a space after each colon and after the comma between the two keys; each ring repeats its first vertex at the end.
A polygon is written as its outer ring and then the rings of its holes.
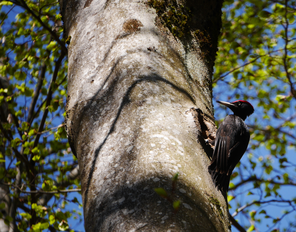
{"type": "Polygon", "coordinates": [[[216,130],[211,76],[222,2],[60,6],[71,36],[65,123],[79,162],[85,230],[230,231],[204,140],[216,130]],[[178,32],[165,15],[186,19],[185,27],[178,32]],[[180,200],[179,210],[154,188],[180,200]]]}

